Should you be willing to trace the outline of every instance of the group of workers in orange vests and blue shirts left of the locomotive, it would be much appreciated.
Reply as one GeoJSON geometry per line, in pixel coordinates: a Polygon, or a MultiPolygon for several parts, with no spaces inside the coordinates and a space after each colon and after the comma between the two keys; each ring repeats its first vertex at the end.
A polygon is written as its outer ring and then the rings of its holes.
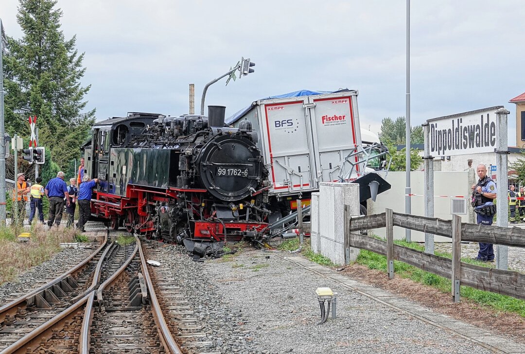
{"type": "Polygon", "coordinates": [[[25,219],[26,202],[29,194],[29,203],[31,212],[29,213],[29,225],[33,222],[36,212],[38,211],[38,219],[41,223],[44,222],[44,212],[42,198],[46,196],[49,199],[49,214],[47,225],[49,227],[54,224],[58,226],[62,221],[62,213],[64,212],[64,203],[66,205],[66,213],[68,214],[67,227],[71,227],[75,223],[75,209],[78,203],[79,220],[77,227],[81,232],[85,232],[84,225],[89,220],[91,214],[91,195],[93,188],[98,183],[98,179],[91,179],[84,173],[84,159],[80,159],[80,166],[76,178],[69,180],[69,186],[64,181],[65,174],[59,171],[57,177],[48,181],[44,187],[41,185],[42,178],[37,177],[36,183],[29,186],[26,182],[26,177],[23,173],[17,176],[17,188],[13,189],[13,201],[17,200],[17,216],[15,219],[14,210],[11,213],[12,223],[17,222],[23,226],[25,219]],[[77,187],[78,186],[78,187],[77,187]]]}

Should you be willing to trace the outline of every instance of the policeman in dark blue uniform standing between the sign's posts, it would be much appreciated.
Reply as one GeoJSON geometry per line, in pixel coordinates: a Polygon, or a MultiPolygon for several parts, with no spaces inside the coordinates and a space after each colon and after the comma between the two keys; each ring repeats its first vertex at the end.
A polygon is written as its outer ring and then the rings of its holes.
{"type": "MultiPolygon", "coordinates": [[[[472,207],[478,214],[478,224],[490,226],[496,214],[496,206],[493,202],[496,199],[496,184],[487,176],[485,165],[478,165],[476,173],[479,180],[477,184],[472,185],[472,207]]],[[[474,259],[481,262],[493,262],[494,248],[492,243],[480,242],[478,256],[474,259]]]]}

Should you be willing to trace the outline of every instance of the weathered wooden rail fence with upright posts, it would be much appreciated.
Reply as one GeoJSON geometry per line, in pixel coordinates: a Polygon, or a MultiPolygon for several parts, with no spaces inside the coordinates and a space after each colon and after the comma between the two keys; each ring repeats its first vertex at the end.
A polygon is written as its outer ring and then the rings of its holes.
{"type": "Polygon", "coordinates": [[[386,209],[381,214],[364,217],[351,217],[345,206],[345,248],[355,247],[372,251],[387,257],[388,277],[394,277],[394,260],[405,262],[452,280],[452,296],[459,301],[459,285],[502,295],[525,299],[525,274],[482,267],[461,262],[461,241],[487,242],[525,248],[525,230],[501,228],[461,223],[454,215],[453,220],[426,218],[409,214],[395,213],[386,209]],[[394,226],[433,233],[451,238],[453,241],[452,259],[424,253],[394,244],[394,226]],[[352,231],[386,228],[386,242],[376,238],[352,233],[352,231]]]}

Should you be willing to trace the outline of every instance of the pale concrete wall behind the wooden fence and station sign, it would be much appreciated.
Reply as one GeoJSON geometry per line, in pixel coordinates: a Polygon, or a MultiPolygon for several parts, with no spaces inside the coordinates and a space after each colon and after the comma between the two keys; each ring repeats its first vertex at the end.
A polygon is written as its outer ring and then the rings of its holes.
{"type": "MultiPolygon", "coordinates": [[[[384,177],[384,173],[382,174],[384,177]]],[[[412,194],[424,194],[424,172],[414,171],[410,175],[412,194]]],[[[395,212],[405,212],[405,172],[389,172],[386,181],[392,185],[390,190],[377,195],[375,202],[369,200],[368,214],[378,214],[385,209],[392,209],[395,212]]],[[[446,196],[469,196],[471,194],[468,171],[439,171],[434,173],[434,195],[446,196]]],[[[425,199],[423,196],[411,197],[412,214],[424,216],[425,199]]],[[[434,217],[450,220],[450,198],[434,198],[434,217]]],[[[461,221],[470,222],[469,213],[460,215],[461,221]]],[[[369,230],[370,233],[386,238],[386,229],[369,230]]],[[[404,239],[405,229],[394,227],[394,238],[404,239]]],[[[448,242],[449,238],[435,236],[436,242],[448,242]]],[[[412,231],[412,241],[424,242],[425,234],[423,232],[412,231]]]]}

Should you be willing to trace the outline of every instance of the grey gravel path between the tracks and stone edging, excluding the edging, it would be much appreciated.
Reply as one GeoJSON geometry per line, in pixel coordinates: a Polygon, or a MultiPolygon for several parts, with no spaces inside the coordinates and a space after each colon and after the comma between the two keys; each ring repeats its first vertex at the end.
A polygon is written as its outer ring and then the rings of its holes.
{"type": "MultiPolygon", "coordinates": [[[[490,352],[273,253],[243,252],[232,261],[207,261],[203,268],[204,278],[217,287],[215,292],[228,304],[230,313],[243,314],[243,330],[255,334],[251,344],[255,352],[490,352]],[[320,313],[314,290],[323,286],[338,293],[338,317],[316,326],[320,313]]],[[[222,352],[243,353],[243,349],[225,349],[222,352]]]]}

